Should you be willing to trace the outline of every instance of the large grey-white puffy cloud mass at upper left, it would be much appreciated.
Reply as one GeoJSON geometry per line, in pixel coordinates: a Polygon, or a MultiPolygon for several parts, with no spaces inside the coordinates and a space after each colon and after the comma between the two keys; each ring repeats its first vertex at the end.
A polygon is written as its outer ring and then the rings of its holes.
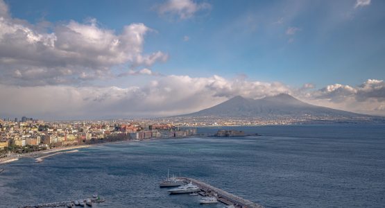
{"type": "Polygon", "coordinates": [[[165,62],[162,51],[143,53],[144,24],[124,26],[116,33],[89,19],[69,21],[42,31],[26,21],[12,19],[0,0],[0,82],[11,85],[56,85],[113,77],[111,68],[132,68],[165,62]],[[48,32],[49,31],[49,32],[48,32]]]}

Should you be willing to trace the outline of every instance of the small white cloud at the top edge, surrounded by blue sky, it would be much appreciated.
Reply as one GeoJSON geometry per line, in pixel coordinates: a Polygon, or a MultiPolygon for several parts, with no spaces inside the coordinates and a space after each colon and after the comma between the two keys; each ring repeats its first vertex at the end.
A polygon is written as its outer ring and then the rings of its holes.
{"type": "Polygon", "coordinates": [[[155,8],[160,15],[177,15],[180,19],[188,19],[198,11],[211,9],[211,5],[191,0],[168,0],[155,8]]]}

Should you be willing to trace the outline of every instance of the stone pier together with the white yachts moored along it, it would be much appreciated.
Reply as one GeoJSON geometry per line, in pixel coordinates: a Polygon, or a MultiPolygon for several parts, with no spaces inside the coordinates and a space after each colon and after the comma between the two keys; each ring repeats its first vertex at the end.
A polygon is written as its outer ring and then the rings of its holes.
{"type": "Polygon", "coordinates": [[[250,200],[243,199],[239,196],[235,196],[232,193],[223,191],[222,189],[213,187],[205,182],[195,180],[189,177],[176,177],[176,181],[184,181],[185,186],[170,189],[169,193],[193,193],[198,192],[200,196],[204,196],[203,200],[200,200],[200,203],[209,203],[211,202],[223,202],[223,204],[228,205],[228,207],[239,207],[239,208],[263,208],[262,205],[258,205],[255,202],[250,200]],[[208,199],[209,198],[209,199],[208,199]],[[208,199],[208,200],[207,200],[208,199]]]}

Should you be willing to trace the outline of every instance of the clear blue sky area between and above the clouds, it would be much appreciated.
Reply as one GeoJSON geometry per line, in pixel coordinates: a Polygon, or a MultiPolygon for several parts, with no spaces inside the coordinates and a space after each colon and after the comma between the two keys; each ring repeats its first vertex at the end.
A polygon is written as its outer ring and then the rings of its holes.
{"type": "MultiPolygon", "coordinates": [[[[166,51],[166,74],[357,85],[385,77],[384,1],[354,8],[356,1],[205,1],[194,17],[160,17],[162,1],[6,1],[13,17],[37,23],[96,18],[121,31],[134,22],[153,28],[145,51],[166,51]],[[286,35],[289,27],[298,28],[286,35]],[[189,41],[183,41],[188,36],[189,41]],[[293,40],[291,42],[290,40],[293,40]]],[[[198,1],[200,3],[201,1],[198,1]]]]}

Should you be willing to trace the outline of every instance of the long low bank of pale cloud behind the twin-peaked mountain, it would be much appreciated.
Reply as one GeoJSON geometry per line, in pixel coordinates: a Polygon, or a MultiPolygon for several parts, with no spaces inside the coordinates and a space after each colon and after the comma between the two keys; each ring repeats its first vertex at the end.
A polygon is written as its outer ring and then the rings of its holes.
{"type": "Polygon", "coordinates": [[[280,93],[315,105],[385,115],[382,80],[367,80],[356,87],[335,84],[312,89],[313,86],[307,84],[296,89],[282,83],[245,78],[171,75],[158,77],[143,87],[0,87],[1,115],[31,115],[51,120],[169,116],[202,110],[237,95],[263,98],[280,93]]]}

